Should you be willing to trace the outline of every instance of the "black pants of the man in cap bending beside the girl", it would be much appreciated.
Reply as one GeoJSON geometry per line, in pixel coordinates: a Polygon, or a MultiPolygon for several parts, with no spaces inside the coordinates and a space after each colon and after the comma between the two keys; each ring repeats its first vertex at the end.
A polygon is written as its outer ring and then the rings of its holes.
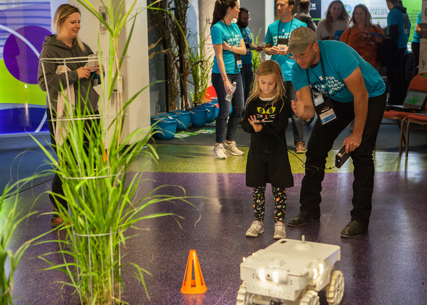
{"type": "MultiPolygon", "coordinates": [[[[319,171],[305,170],[305,176],[301,182],[300,211],[319,214],[322,196],[322,181],[325,178],[326,157],[331,150],[333,142],[346,126],[354,119],[354,105],[339,103],[332,100],[337,118],[322,126],[319,118],[313,126],[310,140],[307,145],[307,161],[311,166],[319,168],[319,171]]],[[[374,160],[372,152],[377,139],[378,129],[386,107],[386,93],[378,97],[370,97],[368,100],[368,115],[365,129],[363,130],[360,146],[351,153],[354,164],[353,182],[353,209],[351,220],[361,223],[369,223],[372,208],[372,192],[374,189],[374,160]]]]}

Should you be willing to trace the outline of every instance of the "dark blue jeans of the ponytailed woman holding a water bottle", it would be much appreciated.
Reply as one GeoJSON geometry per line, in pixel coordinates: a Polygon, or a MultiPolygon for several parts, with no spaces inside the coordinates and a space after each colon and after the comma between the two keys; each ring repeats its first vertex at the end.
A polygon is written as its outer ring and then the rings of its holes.
{"type": "Polygon", "coordinates": [[[236,82],[236,91],[234,91],[231,102],[225,100],[227,92],[225,92],[221,74],[212,73],[212,85],[218,97],[219,106],[219,113],[216,117],[216,143],[222,143],[222,141],[224,141],[225,125],[228,115],[228,127],[225,140],[234,141],[234,135],[236,134],[237,126],[239,126],[240,115],[244,109],[242,76],[240,73],[237,73],[227,74],[227,77],[231,83],[236,82]],[[233,111],[230,113],[231,105],[233,105],[233,111]]]}

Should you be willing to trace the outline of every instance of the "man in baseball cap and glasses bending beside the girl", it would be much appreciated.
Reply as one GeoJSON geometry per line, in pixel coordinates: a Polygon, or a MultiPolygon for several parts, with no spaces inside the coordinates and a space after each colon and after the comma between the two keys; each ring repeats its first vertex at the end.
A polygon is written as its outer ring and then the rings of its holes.
{"type": "Polygon", "coordinates": [[[316,41],[316,34],[308,27],[292,31],[288,51],[297,63],[291,74],[297,91],[292,110],[303,120],[317,113],[307,145],[300,212],[288,225],[319,221],[326,157],[338,135],[355,119],[353,133],[342,143],[345,152],[351,153],[354,182],[351,221],[341,236],[359,236],[368,229],[371,215],[372,152],[386,106],[386,86],[375,68],[354,49],[340,41],[316,41]],[[314,106],[310,84],[325,95],[323,103],[314,106]]]}

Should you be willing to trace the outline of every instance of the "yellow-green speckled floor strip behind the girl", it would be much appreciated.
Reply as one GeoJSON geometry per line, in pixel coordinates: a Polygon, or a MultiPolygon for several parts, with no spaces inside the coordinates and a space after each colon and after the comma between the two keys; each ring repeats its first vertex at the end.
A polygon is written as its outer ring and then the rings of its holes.
{"type": "MultiPolygon", "coordinates": [[[[245,155],[227,155],[227,159],[220,160],[213,156],[213,146],[197,145],[167,145],[157,144],[155,149],[160,160],[155,163],[148,161],[145,169],[145,157],[141,155],[132,164],[132,171],[160,172],[160,173],[245,173],[246,154],[249,147],[239,147],[245,155]]],[[[335,165],[337,151],[331,150],[328,155],[326,167],[335,165]]],[[[305,161],[305,154],[298,154],[305,161]]],[[[292,173],[304,173],[302,162],[289,153],[292,173]]],[[[409,153],[409,158],[399,157],[398,153],[374,152],[376,172],[426,170],[427,155],[421,153],[409,153]]],[[[353,164],[347,161],[340,169],[333,168],[327,173],[353,172],[353,164]]]]}

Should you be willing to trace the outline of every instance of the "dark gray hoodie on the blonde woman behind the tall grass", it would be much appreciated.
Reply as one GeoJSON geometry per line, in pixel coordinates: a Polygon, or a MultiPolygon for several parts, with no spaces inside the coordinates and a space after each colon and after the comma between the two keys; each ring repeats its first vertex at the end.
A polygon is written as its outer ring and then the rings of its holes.
{"type": "MultiPolygon", "coordinates": [[[[88,56],[92,53],[92,50],[90,47],[88,47],[86,44],[83,43],[86,50],[82,51],[80,49],[79,45],[77,44],[77,40],[74,38],[72,47],[68,47],[64,42],[56,39],[55,35],[49,35],[46,36],[45,41],[43,42],[43,49],[40,53],[40,58],[69,58],[69,57],[79,57],[79,56],[88,56]]],[[[83,103],[86,100],[86,95],[88,95],[88,101],[90,102],[90,105],[88,104],[89,109],[91,113],[97,111],[98,109],[98,100],[99,95],[92,87],[91,78],[93,77],[94,73],[91,73],[91,77],[89,79],[82,78],[79,79],[79,76],[77,74],[77,69],[79,67],[84,67],[87,61],[83,62],[70,62],[67,63],[67,67],[70,68],[70,72],[68,72],[68,81],[70,85],[74,84],[74,92],[76,96],[76,105],[78,103],[78,97],[80,96],[82,104],[81,104],[81,110],[83,112],[85,103],[83,103]],[[80,83],[80,85],[79,85],[80,83]],[[80,93],[79,93],[79,87],[80,87],[80,93]],[[89,92],[88,92],[89,90],[89,92]],[[88,92],[88,94],[87,94],[88,92]]],[[[65,83],[67,82],[65,78],[65,73],[61,74],[55,74],[56,68],[59,65],[64,65],[63,61],[58,62],[44,62],[44,70],[46,73],[46,79],[47,84],[49,88],[49,96],[50,96],[50,103],[52,104],[54,110],[56,110],[56,101],[58,100],[58,91],[61,91],[60,83],[65,88],[65,83]]],[[[38,85],[40,86],[41,90],[46,90],[46,85],[44,82],[44,75],[43,75],[43,68],[41,66],[41,61],[38,65],[38,85]]],[[[65,88],[66,89],[66,88],[65,88]]],[[[46,107],[49,109],[49,102],[46,97],[46,107]]]]}

